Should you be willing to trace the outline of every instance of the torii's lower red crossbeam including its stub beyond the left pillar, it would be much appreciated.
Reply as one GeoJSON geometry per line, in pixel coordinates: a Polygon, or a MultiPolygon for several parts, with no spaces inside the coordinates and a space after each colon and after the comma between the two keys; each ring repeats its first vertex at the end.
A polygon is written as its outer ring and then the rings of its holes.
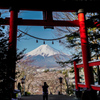
{"type": "MultiPolygon", "coordinates": [[[[5,19],[6,23],[2,25],[9,25],[9,18],[5,19]]],[[[46,21],[46,20],[26,20],[18,18],[17,25],[23,26],[70,26],[70,27],[79,27],[78,20],[74,21],[46,21]]]]}

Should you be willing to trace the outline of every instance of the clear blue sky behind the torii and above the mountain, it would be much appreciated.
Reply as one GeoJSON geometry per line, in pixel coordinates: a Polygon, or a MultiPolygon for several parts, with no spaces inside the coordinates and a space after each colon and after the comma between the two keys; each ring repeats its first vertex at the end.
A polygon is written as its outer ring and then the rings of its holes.
{"type": "MultiPolygon", "coordinates": [[[[1,10],[2,15],[1,17],[9,17],[10,12],[8,10],[1,10]]],[[[20,11],[19,18],[23,19],[43,19],[43,15],[41,11],[20,11]]],[[[55,29],[44,29],[43,26],[18,26],[18,29],[27,32],[28,34],[31,34],[35,37],[44,38],[44,39],[54,39],[57,38],[54,33],[56,32],[55,29]]],[[[60,50],[66,54],[70,54],[69,49],[65,49],[61,44],[59,44],[59,41],[54,41],[54,44],[52,44],[52,41],[45,41],[45,44],[48,44],[49,46],[60,50]]],[[[40,45],[43,45],[43,40],[38,40],[38,43],[36,43],[36,39],[31,38],[29,36],[24,36],[20,40],[17,40],[17,48],[21,51],[24,48],[26,48],[25,53],[28,53],[40,45]]]]}

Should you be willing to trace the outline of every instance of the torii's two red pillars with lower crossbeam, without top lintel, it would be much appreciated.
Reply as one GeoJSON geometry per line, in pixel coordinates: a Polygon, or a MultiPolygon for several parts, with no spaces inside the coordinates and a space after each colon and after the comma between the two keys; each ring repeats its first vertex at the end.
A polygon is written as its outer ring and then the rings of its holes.
{"type": "Polygon", "coordinates": [[[90,89],[90,84],[91,84],[90,79],[89,79],[90,71],[89,71],[89,66],[88,66],[88,61],[89,61],[88,58],[89,57],[88,57],[88,52],[87,52],[88,51],[88,41],[87,41],[87,33],[86,33],[86,25],[85,25],[85,14],[84,14],[83,9],[80,9],[78,11],[78,19],[79,20],[75,20],[75,21],[49,20],[49,18],[51,18],[52,15],[47,16],[47,20],[25,20],[25,19],[23,20],[23,19],[18,18],[17,10],[11,9],[10,13],[11,13],[10,19],[8,19],[8,18],[5,19],[8,22],[8,23],[5,23],[5,25],[8,25],[8,24],[10,25],[9,42],[11,43],[10,48],[12,49],[11,50],[12,52],[14,52],[16,50],[17,25],[80,27],[80,38],[81,38],[81,47],[82,47],[82,55],[83,55],[85,82],[86,82],[85,87],[90,89]]]}

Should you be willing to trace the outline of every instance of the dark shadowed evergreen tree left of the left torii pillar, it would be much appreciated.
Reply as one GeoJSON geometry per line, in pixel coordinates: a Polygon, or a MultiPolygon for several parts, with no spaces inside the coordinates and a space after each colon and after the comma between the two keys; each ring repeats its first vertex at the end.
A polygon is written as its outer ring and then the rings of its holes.
{"type": "MultiPolygon", "coordinates": [[[[11,57],[9,58],[9,38],[7,34],[3,32],[3,29],[0,29],[0,98],[2,100],[10,100],[14,80],[11,75],[11,57]]],[[[20,60],[23,57],[23,51],[16,54],[16,61],[20,60]]],[[[12,61],[13,62],[13,61],[12,61]]],[[[16,62],[17,63],[17,62],[16,62]]]]}

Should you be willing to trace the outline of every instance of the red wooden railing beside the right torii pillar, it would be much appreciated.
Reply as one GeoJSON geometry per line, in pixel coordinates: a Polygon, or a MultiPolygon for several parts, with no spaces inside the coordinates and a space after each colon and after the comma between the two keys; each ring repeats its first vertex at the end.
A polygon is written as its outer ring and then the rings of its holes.
{"type": "MultiPolygon", "coordinates": [[[[77,60],[74,60],[75,84],[76,84],[76,89],[78,90],[79,87],[86,88],[86,85],[85,83],[79,83],[79,68],[84,68],[83,63],[79,63],[79,64],[76,64],[76,63],[77,63],[77,60]]],[[[88,62],[89,67],[98,66],[98,65],[100,65],[100,60],[88,62]]],[[[100,91],[100,85],[90,84],[90,88],[93,90],[100,91]]]]}

